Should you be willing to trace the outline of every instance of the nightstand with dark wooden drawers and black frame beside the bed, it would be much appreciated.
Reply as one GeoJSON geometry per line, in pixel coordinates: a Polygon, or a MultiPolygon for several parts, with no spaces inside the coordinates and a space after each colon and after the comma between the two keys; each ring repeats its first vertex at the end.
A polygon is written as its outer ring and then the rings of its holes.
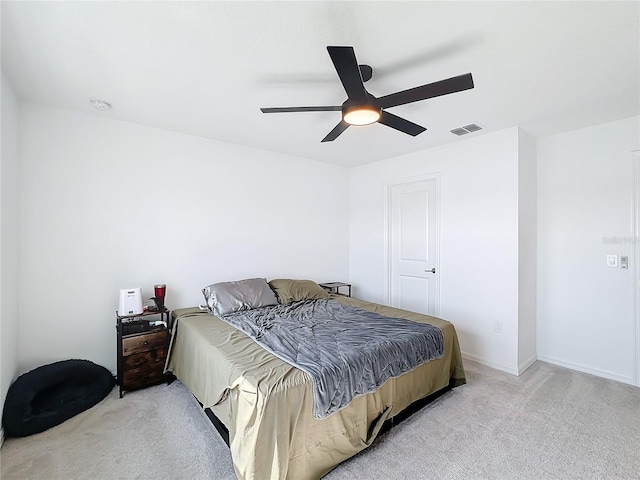
{"type": "Polygon", "coordinates": [[[118,348],[118,385],[120,398],[126,390],[136,390],[158,383],[170,383],[164,364],[169,349],[169,329],[165,325],[150,326],[150,320],[169,323],[169,310],[120,316],[116,313],[118,348]]]}

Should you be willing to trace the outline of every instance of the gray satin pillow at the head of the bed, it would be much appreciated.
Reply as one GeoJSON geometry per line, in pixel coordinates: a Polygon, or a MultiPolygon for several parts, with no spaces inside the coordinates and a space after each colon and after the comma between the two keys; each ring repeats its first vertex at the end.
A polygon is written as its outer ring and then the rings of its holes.
{"type": "Polygon", "coordinates": [[[266,278],[214,283],[204,287],[202,293],[209,312],[217,316],[278,303],[266,278]]]}

